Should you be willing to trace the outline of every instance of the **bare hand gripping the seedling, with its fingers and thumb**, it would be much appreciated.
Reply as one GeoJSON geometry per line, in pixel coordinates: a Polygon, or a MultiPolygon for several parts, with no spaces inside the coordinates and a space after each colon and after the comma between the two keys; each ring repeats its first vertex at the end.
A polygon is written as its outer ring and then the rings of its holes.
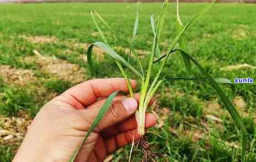
{"type": "MultiPolygon", "coordinates": [[[[135,88],[137,82],[130,82],[135,88]]],[[[69,161],[106,98],[115,91],[128,92],[126,80],[89,80],[53,98],[36,114],[13,161],[69,161]]],[[[134,116],[138,99],[139,94],[135,94],[135,98],[116,96],[75,161],[103,161],[107,154],[131,143],[133,137],[138,140],[134,116]]],[[[145,127],[155,123],[156,117],[148,113],[145,127]]]]}

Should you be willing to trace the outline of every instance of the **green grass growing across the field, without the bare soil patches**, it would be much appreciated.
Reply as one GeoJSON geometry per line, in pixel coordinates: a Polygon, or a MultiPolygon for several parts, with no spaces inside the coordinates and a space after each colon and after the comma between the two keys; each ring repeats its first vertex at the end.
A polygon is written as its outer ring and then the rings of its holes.
{"type": "MultiPolygon", "coordinates": [[[[182,22],[187,23],[192,16],[208,4],[205,3],[181,3],[180,15],[182,22]]],[[[135,3],[61,3],[61,4],[1,4],[0,5],[0,64],[11,65],[15,68],[32,69],[40,71],[35,64],[23,62],[26,56],[31,56],[33,50],[37,49],[41,54],[56,56],[59,59],[67,60],[73,64],[78,64],[88,71],[88,65],[80,58],[80,54],[85,54],[85,48],[75,46],[75,43],[91,44],[101,40],[100,35],[93,36],[97,29],[90,17],[91,9],[96,9],[106,22],[117,32],[131,39],[133,23],[135,18],[135,3]],[[117,14],[118,13],[118,14],[117,14]],[[49,35],[58,38],[54,43],[34,44],[28,40],[20,38],[19,35],[49,35]],[[67,53],[66,51],[71,52],[67,53]]],[[[140,20],[135,47],[145,51],[151,50],[153,34],[150,28],[150,15],[159,13],[160,3],[140,4],[140,20]]],[[[186,32],[189,43],[189,54],[200,62],[200,64],[213,77],[226,77],[233,80],[238,77],[253,77],[256,79],[256,70],[239,69],[233,71],[221,71],[220,68],[227,65],[247,63],[256,65],[256,13],[254,4],[214,4],[207,14],[197,23],[192,25],[186,32]]],[[[176,36],[176,8],[174,3],[169,4],[169,16],[166,19],[168,25],[164,26],[160,41],[160,49],[167,51],[171,42],[176,36]],[[164,45],[165,44],[165,45],[164,45]]],[[[102,25],[101,25],[102,26],[102,25]]],[[[103,28],[103,30],[106,30],[103,28]]],[[[125,46],[111,35],[105,33],[108,43],[112,46],[125,46]]],[[[124,56],[124,51],[120,50],[120,55],[124,56]]],[[[127,55],[125,55],[127,56],[127,55]]],[[[149,55],[145,55],[143,67],[147,67],[149,55]]],[[[136,63],[135,59],[131,60],[136,63]]],[[[105,57],[97,63],[97,77],[120,77],[122,76],[115,62],[105,57]]],[[[139,70],[139,66],[137,66],[139,70]]],[[[158,69],[153,69],[157,72],[158,69]]],[[[40,72],[38,74],[41,74],[40,72]]],[[[198,72],[199,74],[199,72],[198,72]]],[[[87,72],[86,78],[93,75],[87,72]]],[[[181,56],[174,55],[173,59],[166,62],[163,76],[186,76],[186,69],[181,60],[181,56]],[[172,72],[170,74],[170,71],[172,72]]],[[[24,107],[29,113],[38,106],[34,91],[27,92],[30,87],[45,87],[49,93],[61,93],[70,87],[69,82],[51,79],[49,76],[36,75],[43,84],[32,83],[25,87],[8,85],[0,81],[1,87],[1,114],[6,116],[17,115],[19,107],[24,107]],[[4,94],[4,95],[2,95],[4,94]],[[7,102],[9,98],[10,102],[7,102]],[[25,100],[29,98],[29,100],[25,100]],[[4,111],[2,111],[4,110],[4,111]]],[[[130,76],[135,77],[135,76],[130,76]]],[[[224,142],[236,142],[239,144],[241,137],[238,136],[238,129],[234,122],[227,116],[220,116],[223,119],[223,130],[217,129],[215,122],[208,121],[203,109],[207,108],[210,101],[218,101],[215,91],[208,85],[201,85],[200,82],[173,81],[164,83],[157,92],[159,109],[167,107],[171,114],[165,119],[165,126],[152,128],[165,139],[161,139],[154,134],[147,134],[146,138],[151,144],[151,148],[167,156],[169,161],[239,161],[241,150],[231,148],[224,142]],[[161,88],[162,87],[162,88],[161,88]],[[166,93],[169,88],[171,96],[166,93]],[[185,96],[175,95],[184,94],[185,96]],[[194,100],[197,97],[200,102],[194,100]],[[205,104],[202,104],[205,103],[205,104]],[[187,117],[196,118],[190,121],[187,117]],[[192,131],[191,124],[204,128],[202,123],[207,123],[210,130],[197,142],[186,138],[184,133],[171,133],[169,127],[192,131]],[[166,142],[168,140],[168,142],[166,142]]],[[[231,94],[228,87],[222,86],[226,94],[231,94]]],[[[237,96],[242,96],[247,103],[245,108],[250,117],[244,118],[243,122],[249,133],[247,145],[247,158],[249,161],[256,160],[255,139],[256,128],[253,122],[256,108],[256,84],[236,85],[237,96]],[[253,145],[254,144],[254,145],[253,145]]],[[[139,91],[139,90],[137,90],[139,91]]],[[[40,105],[40,104],[39,104],[40,105]]],[[[126,147],[120,153],[114,155],[115,159],[127,160],[129,148],[126,147]]],[[[12,153],[8,151],[8,146],[0,148],[2,161],[10,161],[12,153]]],[[[135,155],[134,161],[142,157],[141,152],[135,155]],[[137,158],[137,159],[136,159],[137,158]]],[[[162,158],[160,161],[164,161],[162,158]]]]}

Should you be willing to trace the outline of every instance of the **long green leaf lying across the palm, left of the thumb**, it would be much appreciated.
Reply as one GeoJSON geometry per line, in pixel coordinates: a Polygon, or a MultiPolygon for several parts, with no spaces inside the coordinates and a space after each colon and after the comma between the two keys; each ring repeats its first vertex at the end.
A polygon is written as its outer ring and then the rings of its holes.
{"type": "Polygon", "coordinates": [[[100,109],[100,112],[98,112],[97,117],[94,119],[91,127],[88,129],[88,132],[85,134],[85,138],[83,138],[82,143],[80,144],[80,147],[74,151],[70,158],[70,162],[75,161],[76,155],[79,153],[80,148],[82,147],[83,143],[85,143],[86,139],[89,137],[89,135],[93,132],[93,130],[97,127],[98,123],[100,123],[101,119],[105,116],[107,113],[109,107],[111,106],[114,97],[116,97],[118,92],[112,93],[106,100],[106,102],[103,104],[103,106],[100,109]]]}

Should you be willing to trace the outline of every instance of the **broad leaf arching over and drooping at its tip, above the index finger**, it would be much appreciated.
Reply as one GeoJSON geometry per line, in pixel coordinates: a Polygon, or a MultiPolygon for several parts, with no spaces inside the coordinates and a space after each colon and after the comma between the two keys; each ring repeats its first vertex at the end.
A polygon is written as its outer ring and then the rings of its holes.
{"type": "Polygon", "coordinates": [[[93,68],[93,64],[92,64],[92,49],[93,46],[96,45],[99,48],[101,48],[103,51],[105,51],[105,53],[107,53],[109,56],[111,56],[111,58],[113,58],[114,60],[120,62],[121,64],[127,66],[130,70],[132,70],[136,75],[143,77],[142,74],[140,74],[139,71],[137,71],[132,65],[130,65],[129,62],[127,62],[124,58],[122,58],[122,56],[118,55],[114,50],[112,50],[107,44],[102,43],[100,41],[97,41],[96,43],[93,43],[89,46],[88,51],[87,51],[87,61],[88,64],[90,66],[90,69],[92,71],[95,71],[95,69],[93,68]]]}

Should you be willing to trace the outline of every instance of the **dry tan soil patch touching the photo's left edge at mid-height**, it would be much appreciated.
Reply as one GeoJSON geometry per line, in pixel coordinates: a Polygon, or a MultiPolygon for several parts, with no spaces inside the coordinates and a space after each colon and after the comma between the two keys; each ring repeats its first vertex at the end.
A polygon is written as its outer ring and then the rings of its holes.
{"type": "Polygon", "coordinates": [[[15,69],[9,65],[0,65],[0,76],[2,76],[4,82],[20,86],[37,80],[33,70],[15,69]]]}

